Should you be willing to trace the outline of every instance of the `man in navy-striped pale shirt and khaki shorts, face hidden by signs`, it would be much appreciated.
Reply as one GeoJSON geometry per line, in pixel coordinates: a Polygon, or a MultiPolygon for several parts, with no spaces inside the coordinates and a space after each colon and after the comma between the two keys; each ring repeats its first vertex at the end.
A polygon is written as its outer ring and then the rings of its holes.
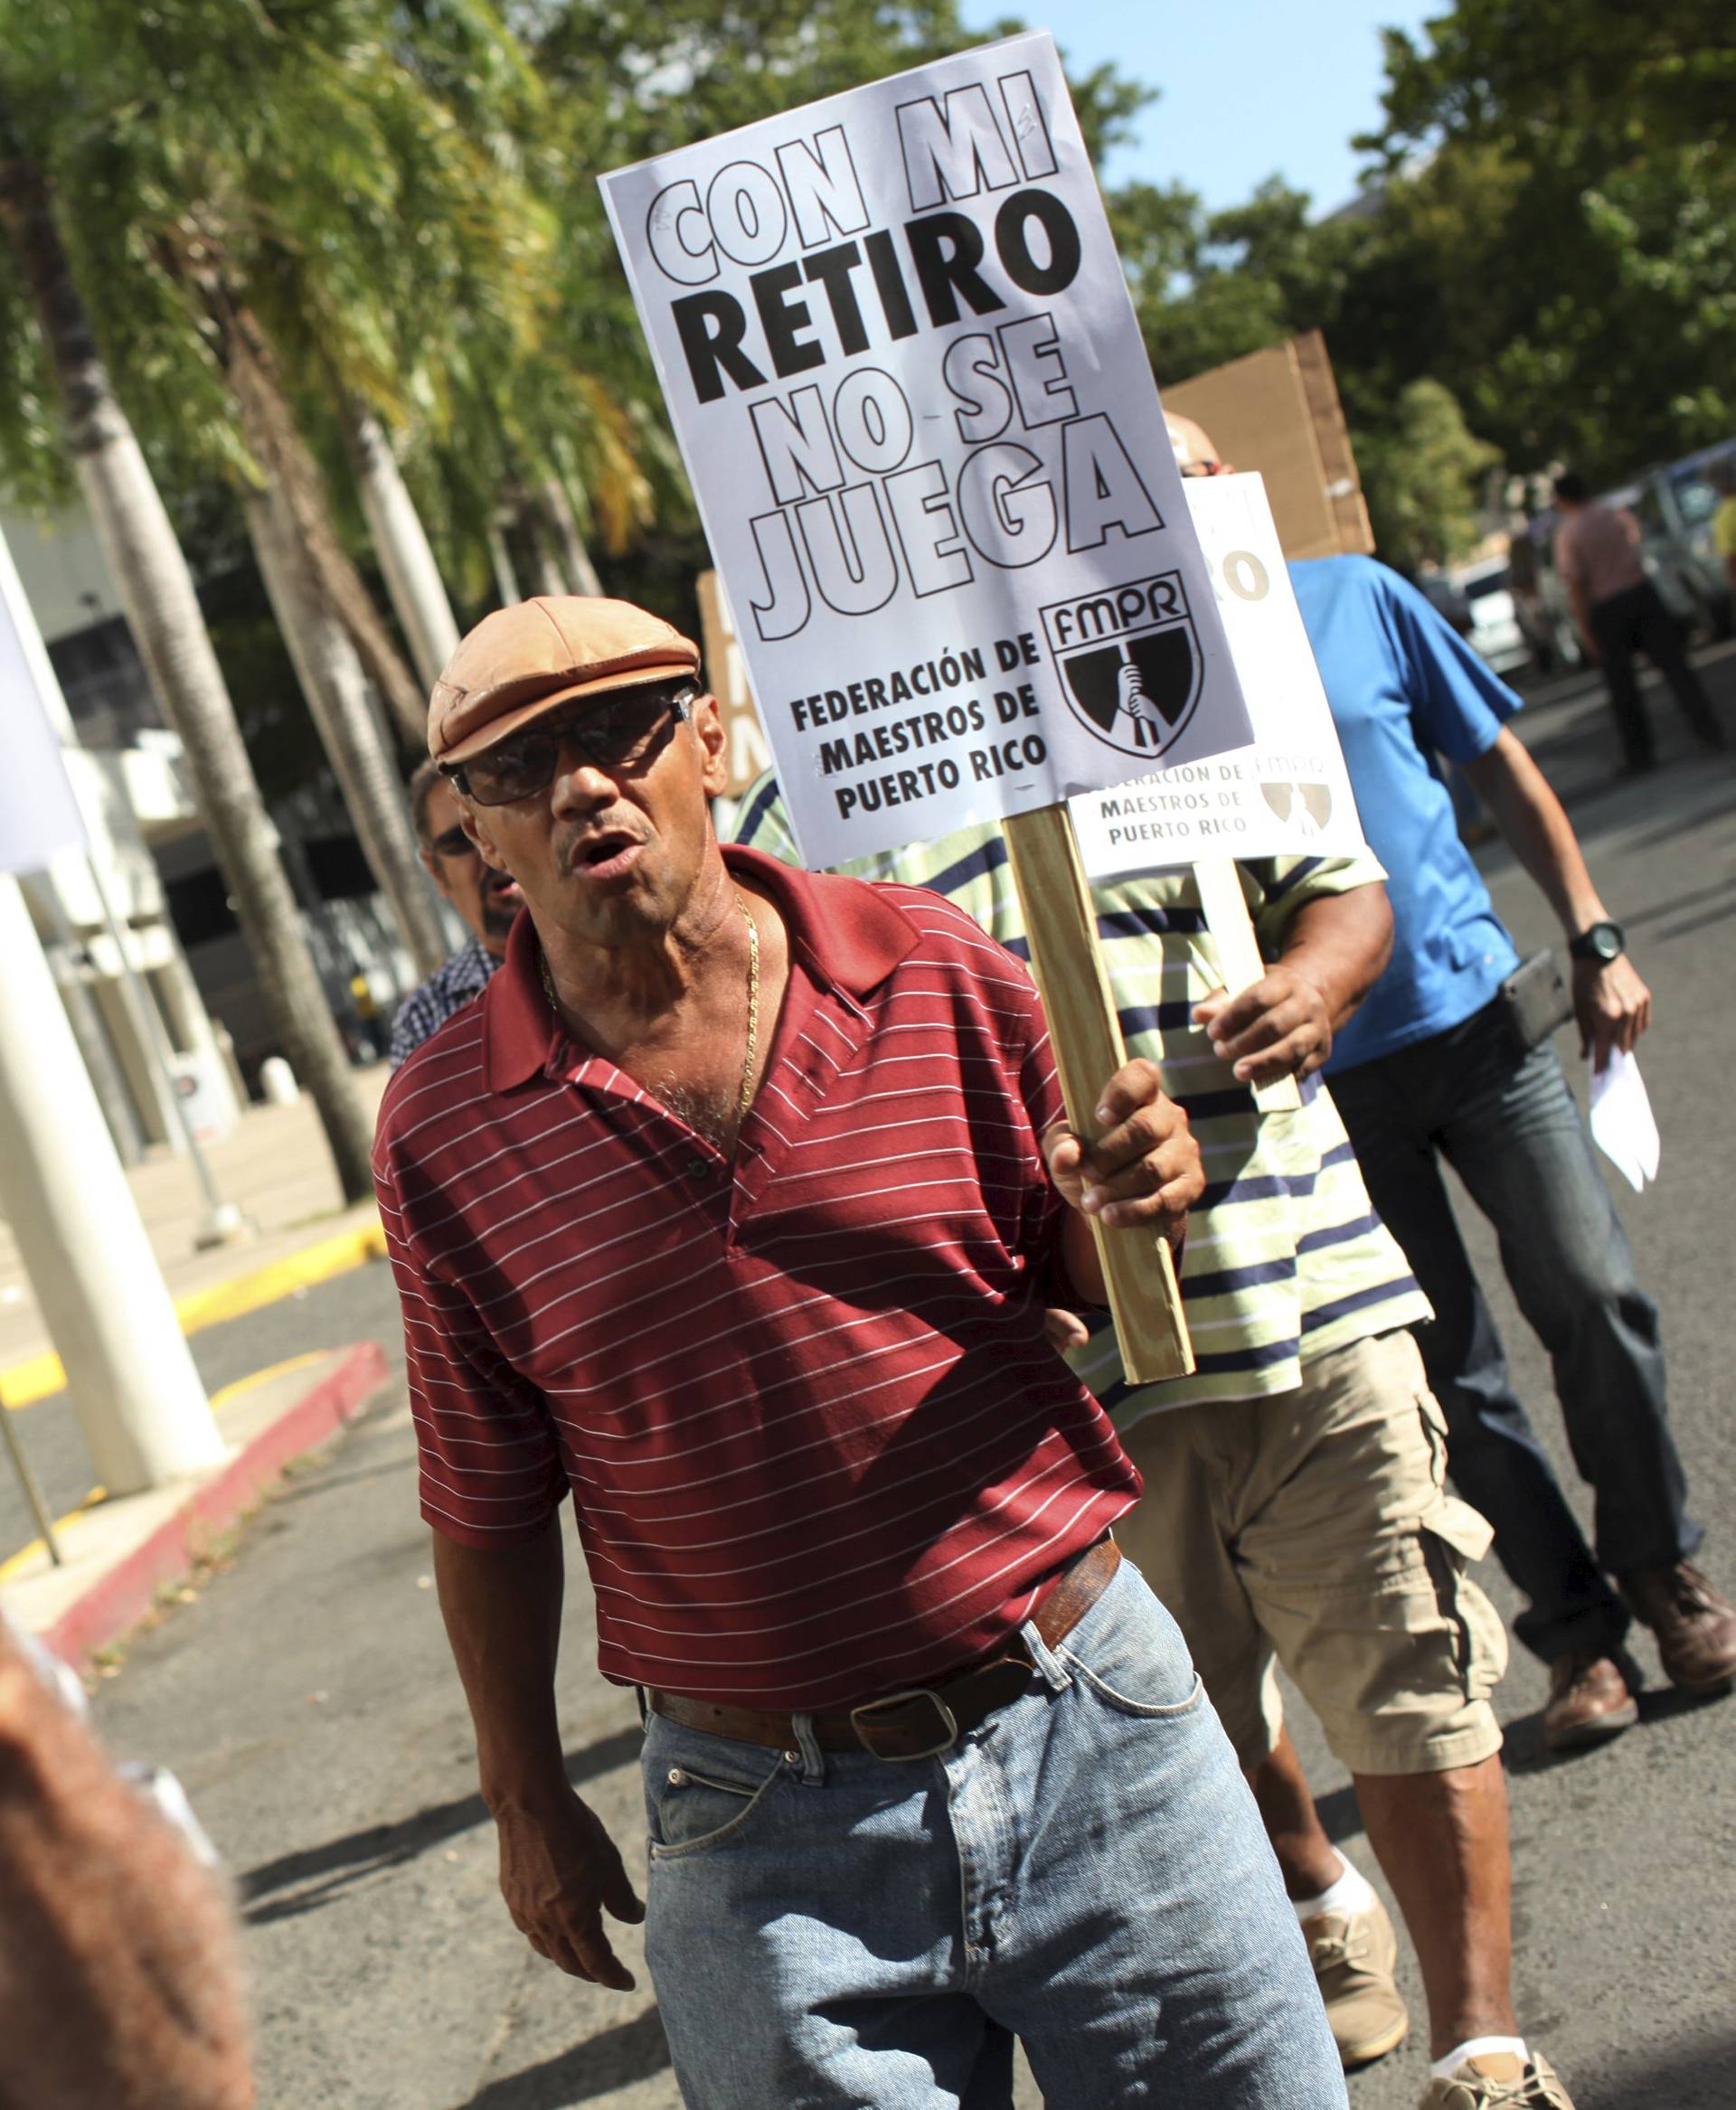
{"type": "MultiPolygon", "coordinates": [[[[772,776],[749,789],[734,833],[797,855],[772,776]]],[[[932,886],[1027,952],[994,827],[850,869],[932,886]]],[[[1069,1361],[1145,1481],[1118,1536],[1179,1618],[1249,1775],[1344,2064],[1405,2036],[1396,1939],[1320,1827],[1285,1730],[1278,1661],[1356,1781],[1417,1948],[1434,2038],[1426,2110],[1561,2110],[1559,2080],[1517,2036],[1508,1990],[1506,1791],[1489,1707],[1506,1639],[1466,1574],[1489,1528],[1445,1490],[1441,1412],[1405,1331],[1428,1302],[1314,1076],[1386,964],[1384,871],[1367,855],[1236,869],[1274,966],[1234,1000],[1190,869],[1095,888],[1126,1047],[1162,1063],[1204,1158],[1181,1270],[1198,1369],[1131,1386],[1101,1319],[1072,1325],[1069,1361]],[[1276,1076],[1299,1078],[1299,1112],[1257,1110],[1251,1087],[1276,1076]],[[1523,2087],[1527,2068],[1540,2074],[1538,2093],[1500,2095],[1506,2066],[1474,2066],[1491,2047],[1523,2087]]]]}

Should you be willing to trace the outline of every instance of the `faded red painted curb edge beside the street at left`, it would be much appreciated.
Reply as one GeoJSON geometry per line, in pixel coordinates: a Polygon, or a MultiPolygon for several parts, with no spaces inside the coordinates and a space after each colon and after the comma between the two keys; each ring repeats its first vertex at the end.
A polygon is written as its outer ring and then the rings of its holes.
{"type": "Polygon", "coordinates": [[[384,1382],[386,1355],[380,1342],[365,1340],[348,1348],[337,1369],[285,1407],[213,1479],[194,1488],[150,1538],[97,1576],[40,1642],[82,1669],[99,1648],[137,1627],[165,1582],[179,1582],[192,1572],[198,1549],[226,1532],[291,1458],[342,1428],[384,1382]]]}

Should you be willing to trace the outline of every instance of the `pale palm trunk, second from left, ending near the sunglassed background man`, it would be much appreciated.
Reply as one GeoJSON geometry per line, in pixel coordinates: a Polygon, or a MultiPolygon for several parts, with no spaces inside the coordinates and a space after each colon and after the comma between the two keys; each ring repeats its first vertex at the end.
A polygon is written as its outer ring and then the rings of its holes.
{"type": "Polygon", "coordinates": [[[281,483],[249,494],[247,532],[367,869],[392,905],[418,977],[432,975],[451,947],[422,869],[409,804],[375,726],[356,648],[319,593],[281,483]]]}

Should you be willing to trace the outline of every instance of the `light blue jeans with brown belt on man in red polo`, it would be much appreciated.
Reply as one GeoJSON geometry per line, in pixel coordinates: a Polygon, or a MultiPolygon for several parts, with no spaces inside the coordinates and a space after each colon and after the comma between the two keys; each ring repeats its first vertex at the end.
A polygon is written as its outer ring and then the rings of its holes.
{"type": "Polygon", "coordinates": [[[1253,1798],[1137,1568],[913,1764],[652,1715],[645,1958],[688,2110],[1344,2110],[1253,1798]]]}

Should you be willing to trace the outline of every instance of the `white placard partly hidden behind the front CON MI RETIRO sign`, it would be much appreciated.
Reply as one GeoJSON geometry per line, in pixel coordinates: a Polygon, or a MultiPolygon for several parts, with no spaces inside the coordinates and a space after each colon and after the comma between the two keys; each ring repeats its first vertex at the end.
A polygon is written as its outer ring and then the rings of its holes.
{"type": "Polygon", "coordinates": [[[1363,823],[1261,477],[1190,477],[1253,745],[1074,800],[1097,880],[1202,857],[1354,857],[1363,823]]]}

